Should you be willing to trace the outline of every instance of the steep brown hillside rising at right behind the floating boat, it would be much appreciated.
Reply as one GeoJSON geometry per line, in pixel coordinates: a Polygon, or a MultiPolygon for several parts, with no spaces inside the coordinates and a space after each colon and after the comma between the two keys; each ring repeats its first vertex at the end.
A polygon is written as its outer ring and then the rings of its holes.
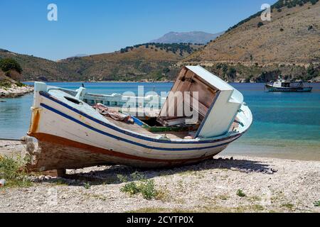
{"type": "Polygon", "coordinates": [[[319,76],[320,3],[295,0],[272,6],[272,20],[260,13],[241,21],[181,64],[201,64],[230,81],[265,81],[319,76]]]}

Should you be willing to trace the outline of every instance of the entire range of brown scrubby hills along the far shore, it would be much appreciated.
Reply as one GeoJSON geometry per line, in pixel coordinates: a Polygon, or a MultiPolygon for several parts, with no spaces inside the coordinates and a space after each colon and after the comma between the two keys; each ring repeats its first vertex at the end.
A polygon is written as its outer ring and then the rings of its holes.
{"type": "Polygon", "coordinates": [[[8,50],[0,50],[0,58],[17,60],[23,80],[166,80],[174,79],[181,65],[202,65],[235,82],[265,82],[279,75],[320,80],[319,11],[319,0],[277,1],[271,21],[261,21],[261,12],[257,12],[207,45],[189,44],[200,40],[174,40],[171,44],[154,40],[58,62],[8,50]]]}

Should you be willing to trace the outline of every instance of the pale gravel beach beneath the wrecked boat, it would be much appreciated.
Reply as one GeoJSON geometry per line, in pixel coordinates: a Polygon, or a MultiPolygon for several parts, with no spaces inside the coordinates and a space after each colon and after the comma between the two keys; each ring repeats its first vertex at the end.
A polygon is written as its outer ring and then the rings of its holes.
{"type": "MultiPolygon", "coordinates": [[[[0,141],[0,155],[23,151],[0,141]]],[[[33,187],[0,188],[1,212],[319,212],[320,162],[217,156],[169,170],[100,166],[68,170],[68,179],[33,176],[33,187]],[[117,175],[138,171],[154,179],[159,195],[130,196],[117,175]],[[241,189],[245,196],[239,196],[241,189]]],[[[129,177],[130,179],[130,177],[129,177]]]]}

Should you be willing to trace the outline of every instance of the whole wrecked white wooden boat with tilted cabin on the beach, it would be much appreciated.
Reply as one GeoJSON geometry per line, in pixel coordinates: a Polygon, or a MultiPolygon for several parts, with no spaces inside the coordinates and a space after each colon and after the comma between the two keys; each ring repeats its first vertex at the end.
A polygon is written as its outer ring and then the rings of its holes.
{"type": "Polygon", "coordinates": [[[110,111],[107,96],[102,100],[84,87],[70,91],[36,82],[28,135],[38,148],[30,151],[31,168],[186,165],[212,158],[250,128],[252,114],[242,94],[202,67],[181,69],[170,93],[178,92],[191,99],[172,101],[169,95],[156,116],[137,118],[110,111]],[[178,114],[181,104],[197,118],[178,114]]]}

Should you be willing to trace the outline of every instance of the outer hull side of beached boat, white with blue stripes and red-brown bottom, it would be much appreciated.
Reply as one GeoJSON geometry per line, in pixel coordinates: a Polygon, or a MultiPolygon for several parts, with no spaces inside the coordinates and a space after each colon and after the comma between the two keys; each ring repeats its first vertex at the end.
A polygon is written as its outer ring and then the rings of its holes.
{"type": "Polygon", "coordinates": [[[172,167],[210,159],[242,133],[211,140],[163,140],[125,131],[55,99],[35,93],[28,135],[37,138],[29,168],[44,171],[93,165],[172,167]]]}

